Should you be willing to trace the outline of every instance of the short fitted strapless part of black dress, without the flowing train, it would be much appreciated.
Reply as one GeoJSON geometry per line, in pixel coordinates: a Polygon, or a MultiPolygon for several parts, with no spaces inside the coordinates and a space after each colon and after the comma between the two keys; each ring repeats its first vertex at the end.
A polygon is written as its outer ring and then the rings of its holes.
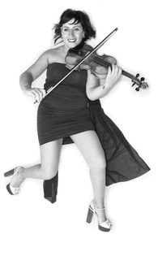
{"type": "MultiPolygon", "coordinates": [[[[47,91],[70,72],[65,63],[50,63],[44,89],[47,91]]],[[[68,144],[70,135],[95,130],[86,94],[87,71],[73,71],[41,102],[37,112],[37,132],[40,145],[63,138],[68,144]]]]}

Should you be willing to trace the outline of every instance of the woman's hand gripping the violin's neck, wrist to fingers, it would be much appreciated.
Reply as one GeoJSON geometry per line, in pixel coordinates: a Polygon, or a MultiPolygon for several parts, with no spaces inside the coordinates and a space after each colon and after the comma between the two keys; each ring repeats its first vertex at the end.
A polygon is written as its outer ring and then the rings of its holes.
{"type": "Polygon", "coordinates": [[[112,64],[112,69],[111,67],[108,68],[108,75],[105,78],[104,88],[110,89],[111,87],[113,87],[113,85],[117,83],[117,80],[119,80],[121,75],[122,75],[122,68],[112,64]]]}

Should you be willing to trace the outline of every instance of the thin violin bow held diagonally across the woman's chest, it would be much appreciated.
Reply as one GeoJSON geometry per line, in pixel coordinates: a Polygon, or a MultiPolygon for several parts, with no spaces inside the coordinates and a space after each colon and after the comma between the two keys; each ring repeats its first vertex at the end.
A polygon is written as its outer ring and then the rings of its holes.
{"type": "MultiPolygon", "coordinates": [[[[83,63],[83,61],[85,59],[87,59],[94,51],[96,51],[100,46],[102,46],[104,44],[105,41],[107,41],[111,36],[113,36],[113,33],[115,33],[117,31],[118,28],[115,28],[113,29],[113,31],[111,33],[109,33],[109,35],[107,37],[105,37],[102,41],[100,41],[100,43],[90,52],[87,53],[87,55],[78,63],[75,65],[75,67],[72,67],[70,72],[66,74],[66,76],[63,76],[63,78],[61,80],[58,81],[58,83],[52,87],[50,87],[48,90],[47,90],[47,93],[45,94],[45,97],[56,87],[58,86],[60,83],[62,83],[63,80],[66,79],[67,76],[70,76],[70,73],[72,73],[77,67],[79,67],[79,65],[81,63],[83,63]]],[[[45,98],[44,97],[44,98],[45,98]]],[[[42,98],[41,102],[44,100],[44,98],[42,98]]],[[[36,101],[37,102],[37,101],[36,101]]],[[[34,104],[36,103],[34,102],[34,104]]]]}

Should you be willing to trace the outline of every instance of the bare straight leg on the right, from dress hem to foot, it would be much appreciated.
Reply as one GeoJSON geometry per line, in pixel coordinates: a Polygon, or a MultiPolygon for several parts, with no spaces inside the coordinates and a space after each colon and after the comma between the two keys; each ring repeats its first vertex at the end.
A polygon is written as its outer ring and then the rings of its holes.
{"type": "MultiPolygon", "coordinates": [[[[95,206],[104,208],[105,195],[105,155],[100,140],[95,131],[79,132],[70,136],[83,154],[90,167],[90,177],[94,193],[95,206]]],[[[106,220],[105,210],[96,210],[99,221],[106,220]]]]}

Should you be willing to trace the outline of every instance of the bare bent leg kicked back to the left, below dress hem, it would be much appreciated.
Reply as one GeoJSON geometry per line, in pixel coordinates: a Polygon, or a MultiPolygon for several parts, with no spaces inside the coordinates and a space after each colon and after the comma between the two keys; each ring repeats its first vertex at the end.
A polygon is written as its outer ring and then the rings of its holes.
{"type": "Polygon", "coordinates": [[[19,173],[13,176],[11,185],[19,187],[19,184],[26,178],[50,180],[58,172],[58,163],[62,148],[62,138],[56,141],[50,141],[40,145],[40,161],[32,167],[23,168],[19,173]]]}

